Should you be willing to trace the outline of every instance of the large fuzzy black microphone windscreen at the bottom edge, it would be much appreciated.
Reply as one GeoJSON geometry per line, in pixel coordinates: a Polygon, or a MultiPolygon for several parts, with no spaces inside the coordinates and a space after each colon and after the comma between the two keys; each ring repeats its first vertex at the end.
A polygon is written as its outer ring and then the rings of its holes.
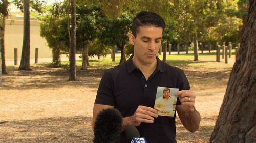
{"type": "Polygon", "coordinates": [[[94,143],[118,143],[122,132],[123,117],[115,108],[103,109],[96,117],[94,143]]]}

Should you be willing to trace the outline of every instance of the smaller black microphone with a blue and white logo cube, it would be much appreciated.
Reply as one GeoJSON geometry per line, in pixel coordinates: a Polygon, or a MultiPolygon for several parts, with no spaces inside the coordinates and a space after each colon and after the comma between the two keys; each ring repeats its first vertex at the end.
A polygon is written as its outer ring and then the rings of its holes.
{"type": "Polygon", "coordinates": [[[144,137],[140,137],[140,133],[135,126],[126,126],[124,132],[127,139],[132,139],[130,143],[147,143],[144,137]]]}

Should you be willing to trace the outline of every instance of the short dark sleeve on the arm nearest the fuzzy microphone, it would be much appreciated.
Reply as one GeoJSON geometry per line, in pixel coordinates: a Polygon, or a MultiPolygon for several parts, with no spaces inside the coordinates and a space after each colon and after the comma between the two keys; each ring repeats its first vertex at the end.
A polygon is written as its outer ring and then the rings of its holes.
{"type": "Polygon", "coordinates": [[[99,88],[97,91],[95,104],[103,105],[115,105],[114,90],[113,90],[113,79],[111,74],[106,70],[100,80],[99,88]]]}

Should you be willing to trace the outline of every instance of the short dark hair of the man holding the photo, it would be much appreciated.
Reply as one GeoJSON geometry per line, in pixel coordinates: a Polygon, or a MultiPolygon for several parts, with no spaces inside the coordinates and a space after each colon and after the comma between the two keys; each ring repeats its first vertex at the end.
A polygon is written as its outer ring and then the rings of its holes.
{"type": "Polygon", "coordinates": [[[136,17],[133,19],[132,34],[134,35],[135,38],[137,33],[139,32],[139,26],[162,27],[164,30],[165,22],[160,15],[154,12],[142,11],[138,13],[136,17]]]}

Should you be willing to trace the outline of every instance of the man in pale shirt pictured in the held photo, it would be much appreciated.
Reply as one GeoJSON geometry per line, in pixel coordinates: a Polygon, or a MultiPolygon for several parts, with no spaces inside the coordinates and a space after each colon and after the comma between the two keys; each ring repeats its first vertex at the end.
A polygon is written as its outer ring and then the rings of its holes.
{"type": "Polygon", "coordinates": [[[165,88],[163,90],[163,96],[156,100],[154,108],[160,116],[174,116],[176,102],[176,98],[170,96],[170,89],[165,88]]]}

